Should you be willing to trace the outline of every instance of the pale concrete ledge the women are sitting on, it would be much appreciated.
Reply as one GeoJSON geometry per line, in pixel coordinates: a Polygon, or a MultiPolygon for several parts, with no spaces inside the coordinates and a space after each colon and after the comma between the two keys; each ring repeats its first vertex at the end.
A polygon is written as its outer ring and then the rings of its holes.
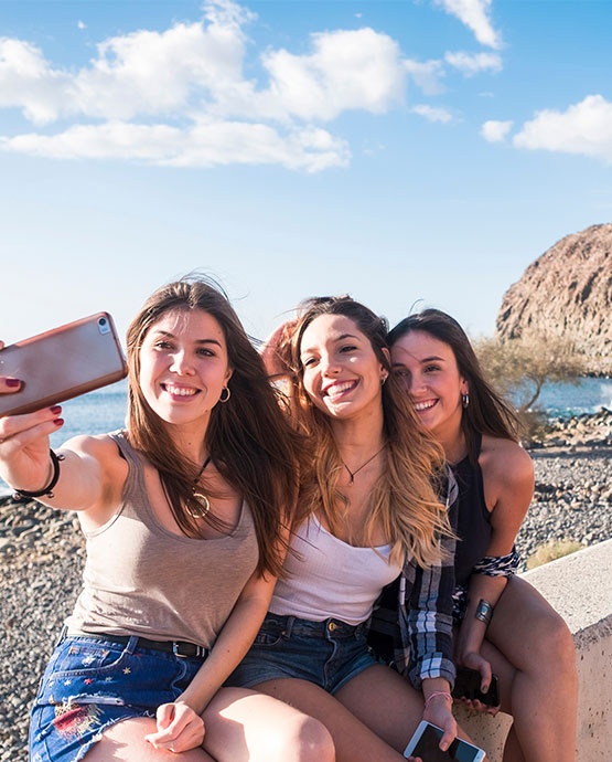
{"type": "MultiPolygon", "coordinates": [[[[612,759],[612,540],[600,542],[523,574],[567,622],[578,663],[576,762],[612,759]]],[[[502,762],[512,720],[455,708],[458,721],[502,762]]]]}

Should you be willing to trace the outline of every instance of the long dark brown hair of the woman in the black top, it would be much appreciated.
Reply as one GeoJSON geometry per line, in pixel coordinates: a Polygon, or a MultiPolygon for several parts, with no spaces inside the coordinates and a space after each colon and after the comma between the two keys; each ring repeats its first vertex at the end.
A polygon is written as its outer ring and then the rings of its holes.
{"type": "Polygon", "coordinates": [[[516,413],[486,380],[470,339],[459,322],[440,309],[423,309],[404,318],[389,331],[389,347],[415,330],[447,343],[452,349],[460,375],[468,381],[470,403],[462,411],[461,428],[470,459],[474,463],[477,457],[476,434],[518,442],[520,424],[516,413]]]}

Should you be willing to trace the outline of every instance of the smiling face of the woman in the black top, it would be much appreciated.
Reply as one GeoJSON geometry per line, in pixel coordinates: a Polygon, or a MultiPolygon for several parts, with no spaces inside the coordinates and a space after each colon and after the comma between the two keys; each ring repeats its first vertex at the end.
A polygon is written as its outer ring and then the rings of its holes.
{"type": "Polygon", "coordinates": [[[459,431],[461,396],[469,389],[448,343],[426,331],[410,331],[391,347],[391,367],[426,428],[438,436],[459,431]]]}

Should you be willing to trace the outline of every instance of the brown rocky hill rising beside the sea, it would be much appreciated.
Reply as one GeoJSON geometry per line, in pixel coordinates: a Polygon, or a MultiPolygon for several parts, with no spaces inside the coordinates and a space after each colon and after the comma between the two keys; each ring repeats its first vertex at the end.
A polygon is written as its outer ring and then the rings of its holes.
{"type": "Polygon", "coordinates": [[[497,332],[568,338],[587,371],[612,375],[612,224],[567,235],[505,293],[497,332]]]}

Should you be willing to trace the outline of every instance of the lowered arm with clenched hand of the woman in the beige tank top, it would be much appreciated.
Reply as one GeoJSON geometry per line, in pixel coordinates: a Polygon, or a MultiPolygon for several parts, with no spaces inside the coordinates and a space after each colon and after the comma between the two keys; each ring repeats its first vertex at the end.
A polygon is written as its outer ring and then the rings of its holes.
{"type": "Polygon", "coordinates": [[[146,737],[154,748],[187,751],[202,744],[205,728],[201,715],[249,649],[268,611],[275,583],[270,575],[251,575],[191,684],[176,701],[159,707],[157,732],[146,737]]]}

